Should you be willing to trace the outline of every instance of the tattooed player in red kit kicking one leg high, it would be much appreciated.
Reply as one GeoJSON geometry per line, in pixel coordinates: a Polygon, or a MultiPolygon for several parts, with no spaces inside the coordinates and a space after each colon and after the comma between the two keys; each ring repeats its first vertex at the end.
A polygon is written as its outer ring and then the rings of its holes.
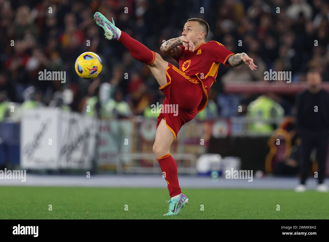
{"type": "Polygon", "coordinates": [[[153,145],[153,152],[164,174],[171,198],[166,201],[169,202],[169,210],[164,215],[176,215],[189,204],[189,199],[182,194],[179,187],[177,165],[170,154],[172,142],[182,125],[191,121],[206,107],[209,89],[216,81],[220,64],[236,67],[244,62],[251,70],[256,70],[257,66],[245,53],[234,54],[216,41],[206,43],[209,25],[200,18],[189,19],[183,27],[182,36],[168,40],[160,47],[163,53],[179,63],[179,69],[118,29],[113,18],[110,22],[96,12],[94,19],[104,29],[107,39],[118,40],[135,59],[148,65],[160,85],[159,89],[165,95],[163,107],[178,105],[178,115],[160,112],[153,145]]]}

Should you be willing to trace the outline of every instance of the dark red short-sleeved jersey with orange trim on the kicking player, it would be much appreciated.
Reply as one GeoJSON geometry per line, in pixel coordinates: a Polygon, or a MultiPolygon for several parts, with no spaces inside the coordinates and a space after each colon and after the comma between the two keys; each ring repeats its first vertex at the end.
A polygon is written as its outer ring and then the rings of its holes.
{"type": "Polygon", "coordinates": [[[194,52],[185,50],[183,45],[179,58],[174,58],[179,63],[179,69],[187,76],[196,76],[202,83],[204,98],[198,108],[201,112],[208,103],[209,89],[216,81],[219,64],[226,64],[227,59],[234,55],[217,41],[209,41],[195,47],[194,52]]]}

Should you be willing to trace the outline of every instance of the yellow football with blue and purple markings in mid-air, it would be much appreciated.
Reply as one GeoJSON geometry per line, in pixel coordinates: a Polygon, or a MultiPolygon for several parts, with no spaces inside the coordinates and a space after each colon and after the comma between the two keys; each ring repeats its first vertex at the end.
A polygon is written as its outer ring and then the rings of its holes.
{"type": "Polygon", "coordinates": [[[75,71],[84,79],[94,79],[102,71],[102,60],[93,52],[82,53],[75,61],[75,71]]]}

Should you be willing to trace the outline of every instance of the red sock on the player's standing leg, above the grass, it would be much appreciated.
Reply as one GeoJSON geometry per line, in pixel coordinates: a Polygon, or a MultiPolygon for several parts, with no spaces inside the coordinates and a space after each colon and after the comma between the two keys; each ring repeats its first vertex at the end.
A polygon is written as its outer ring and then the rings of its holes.
{"type": "Polygon", "coordinates": [[[170,198],[173,196],[181,194],[181,188],[179,187],[178,175],[177,175],[177,165],[172,158],[171,154],[166,154],[157,159],[160,164],[161,170],[164,174],[164,179],[168,184],[168,190],[170,198]]]}

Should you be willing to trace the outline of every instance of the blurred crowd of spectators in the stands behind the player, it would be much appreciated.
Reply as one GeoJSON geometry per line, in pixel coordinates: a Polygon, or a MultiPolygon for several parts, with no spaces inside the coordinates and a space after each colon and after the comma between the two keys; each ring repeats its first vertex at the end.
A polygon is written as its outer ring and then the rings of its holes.
{"type": "MultiPolygon", "coordinates": [[[[216,40],[254,59],[258,66],[254,72],[246,65],[220,65],[208,107],[197,116],[201,120],[241,115],[237,106],[259,96],[225,94],[226,82],[264,80],[269,69],[291,71],[292,82],[303,82],[310,68],[329,80],[329,3],[325,0],[0,0],[0,9],[0,121],[11,115],[8,103],[81,113],[90,106],[87,115],[100,118],[158,116],[150,108],[164,99],[157,81],[123,45],[104,38],[93,20],[96,11],[113,16],[121,30],[158,53],[163,40],[181,36],[188,18],[200,17],[210,25],[207,41],[216,40]],[[97,53],[103,62],[101,74],[91,81],[78,77],[74,69],[76,58],[86,51],[97,53]],[[44,69],[66,71],[66,82],[39,80],[38,72],[44,69]]],[[[175,64],[171,57],[162,56],[175,64]]],[[[275,102],[273,106],[279,103],[285,115],[291,114],[293,98],[267,98],[275,102]]]]}

